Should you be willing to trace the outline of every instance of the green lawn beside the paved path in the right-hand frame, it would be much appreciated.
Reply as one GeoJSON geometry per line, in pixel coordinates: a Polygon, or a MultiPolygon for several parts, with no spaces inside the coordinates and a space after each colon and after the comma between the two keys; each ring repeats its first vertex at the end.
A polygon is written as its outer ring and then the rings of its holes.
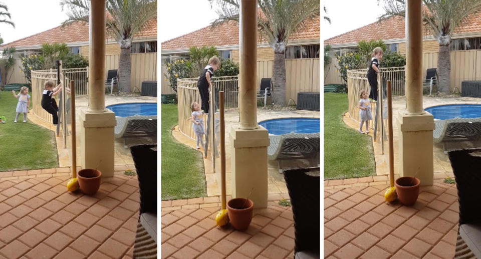
{"type": "Polygon", "coordinates": [[[349,128],[342,115],[347,94],[324,93],[324,178],[344,179],[375,175],[371,137],[349,128]]]}

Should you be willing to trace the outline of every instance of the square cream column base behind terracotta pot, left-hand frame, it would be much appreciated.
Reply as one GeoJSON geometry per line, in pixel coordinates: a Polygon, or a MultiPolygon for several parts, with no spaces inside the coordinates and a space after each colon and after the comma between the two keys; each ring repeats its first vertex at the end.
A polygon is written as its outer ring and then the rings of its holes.
{"type": "Polygon", "coordinates": [[[82,169],[97,168],[102,177],[114,176],[114,127],[115,114],[82,111],[81,123],[81,165],[82,169]]]}

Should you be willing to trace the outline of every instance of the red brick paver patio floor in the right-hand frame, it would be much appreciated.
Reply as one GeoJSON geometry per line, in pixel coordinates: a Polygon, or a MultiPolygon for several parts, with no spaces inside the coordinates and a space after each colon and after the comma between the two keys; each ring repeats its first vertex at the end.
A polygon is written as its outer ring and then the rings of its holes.
{"type": "Polygon", "coordinates": [[[385,179],[362,179],[324,182],[325,258],[454,257],[459,211],[454,184],[437,179],[421,187],[414,205],[404,206],[384,201],[385,179]]]}

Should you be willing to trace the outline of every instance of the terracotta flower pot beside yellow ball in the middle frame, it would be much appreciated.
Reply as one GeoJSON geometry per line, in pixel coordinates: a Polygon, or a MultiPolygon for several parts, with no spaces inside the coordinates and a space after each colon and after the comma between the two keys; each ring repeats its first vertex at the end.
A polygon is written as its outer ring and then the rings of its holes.
{"type": "Polygon", "coordinates": [[[230,224],[237,230],[245,230],[252,220],[254,202],[245,198],[235,198],[227,202],[230,224]]]}

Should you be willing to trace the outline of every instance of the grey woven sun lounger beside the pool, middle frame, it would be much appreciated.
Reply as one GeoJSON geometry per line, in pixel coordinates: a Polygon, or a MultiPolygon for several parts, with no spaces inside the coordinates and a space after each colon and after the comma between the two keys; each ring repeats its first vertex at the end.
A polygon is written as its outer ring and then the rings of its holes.
{"type": "Polygon", "coordinates": [[[288,133],[269,136],[268,159],[279,162],[279,169],[318,166],[320,133],[288,133]]]}

